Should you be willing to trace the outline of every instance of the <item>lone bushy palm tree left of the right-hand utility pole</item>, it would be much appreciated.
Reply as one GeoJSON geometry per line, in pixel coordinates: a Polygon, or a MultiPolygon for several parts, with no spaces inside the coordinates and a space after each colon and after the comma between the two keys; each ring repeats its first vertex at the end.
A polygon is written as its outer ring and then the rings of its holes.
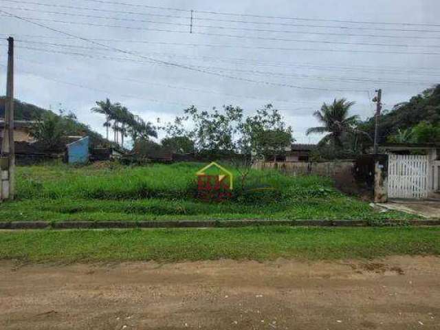
{"type": "Polygon", "coordinates": [[[341,137],[345,133],[355,133],[355,125],[357,124],[358,115],[349,116],[350,108],[355,102],[348,102],[345,98],[334,100],[333,104],[322,104],[319,111],[314,113],[322,126],[311,127],[307,129],[307,135],[312,133],[328,133],[322,138],[320,144],[333,142],[338,146],[342,146],[341,137]]]}

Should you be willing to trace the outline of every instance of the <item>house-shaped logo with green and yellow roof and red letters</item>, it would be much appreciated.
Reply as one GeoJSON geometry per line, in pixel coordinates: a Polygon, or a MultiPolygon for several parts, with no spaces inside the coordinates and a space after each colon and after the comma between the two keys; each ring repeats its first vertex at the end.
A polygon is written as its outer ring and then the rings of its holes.
{"type": "Polygon", "coordinates": [[[232,190],[234,188],[232,173],[216,162],[203,167],[196,175],[199,178],[199,187],[205,184],[210,190],[220,190],[221,188],[232,190]]]}

